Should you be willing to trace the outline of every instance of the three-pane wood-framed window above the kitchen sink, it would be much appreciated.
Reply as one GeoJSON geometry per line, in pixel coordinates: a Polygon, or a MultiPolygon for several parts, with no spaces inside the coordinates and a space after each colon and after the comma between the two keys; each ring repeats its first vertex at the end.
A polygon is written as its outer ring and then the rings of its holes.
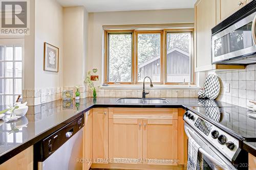
{"type": "Polygon", "coordinates": [[[193,29],[105,31],[106,84],[194,84],[193,29]]]}

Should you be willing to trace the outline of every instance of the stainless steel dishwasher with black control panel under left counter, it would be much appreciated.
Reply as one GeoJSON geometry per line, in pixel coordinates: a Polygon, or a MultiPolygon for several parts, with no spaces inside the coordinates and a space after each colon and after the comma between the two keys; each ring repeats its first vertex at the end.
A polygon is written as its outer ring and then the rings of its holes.
{"type": "Polygon", "coordinates": [[[82,169],[82,135],[84,116],[42,139],[34,145],[34,169],[82,169]]]}

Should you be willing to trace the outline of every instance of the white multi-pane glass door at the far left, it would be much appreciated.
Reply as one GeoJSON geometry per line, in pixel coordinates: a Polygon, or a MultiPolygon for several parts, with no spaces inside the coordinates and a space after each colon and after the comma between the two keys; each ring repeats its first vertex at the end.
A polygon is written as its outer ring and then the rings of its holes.
{"type": "Polygon", "coordinates": [[[0,104],[12,105],[22,95],[23,45],[0,44],[0,104]]]}

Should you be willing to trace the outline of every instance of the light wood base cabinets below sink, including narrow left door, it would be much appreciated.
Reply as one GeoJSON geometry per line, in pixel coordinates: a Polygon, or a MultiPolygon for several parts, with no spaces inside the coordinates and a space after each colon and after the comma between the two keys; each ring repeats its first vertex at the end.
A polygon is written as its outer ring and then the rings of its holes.
{"type": "Polygon", "coordinates": [[[182,169],[184,109],[94,108],[93,168],[182,169]],[[180,136],[181,135],[181,136],[180,136]]]}

